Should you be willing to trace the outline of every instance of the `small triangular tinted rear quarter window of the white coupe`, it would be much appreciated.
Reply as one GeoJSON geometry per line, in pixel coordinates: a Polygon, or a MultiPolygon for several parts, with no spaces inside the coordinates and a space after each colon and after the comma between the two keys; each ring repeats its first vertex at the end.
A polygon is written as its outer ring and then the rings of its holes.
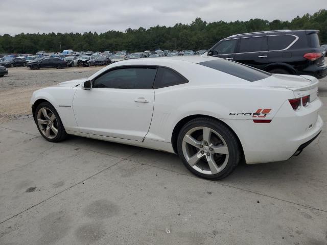
{"type": "Polygon", "coordinates": [[[188,83],[189,81],[177,72],[164,68],[158,67],[158,74],[154,81],[154,88],[163,88],[174,86],[178,84],[188,83]]]}

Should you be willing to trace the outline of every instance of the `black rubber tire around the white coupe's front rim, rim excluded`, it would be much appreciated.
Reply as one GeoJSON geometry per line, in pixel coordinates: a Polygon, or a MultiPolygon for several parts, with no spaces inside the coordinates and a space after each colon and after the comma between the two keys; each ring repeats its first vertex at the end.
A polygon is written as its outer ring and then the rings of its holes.
{"type": "Polygon", "coordinates": [[[63,124],[62,124],[62,121],[61,121],[61,119],[60,119],[60,117],[58,115],[58,112],[56,111],[56,109],[49,102],[42,102],[36,107],[35,114],[34,114],[34,119],[35,119],[37,129],[39,130],[40,134],[42,135],[42,137],[44,139],[46,139],[46,140],[48,140],[50,142],[60,142],[60,141],[64,140],[67,137],[67,133],[66,133],[64,127],[63,127],[63,124]],[[54,137],[52,139],[46,137],[42,133],[42,131],[41,131],[39,125],[38,125],[38,122],[37,122],[37,114],[38,114],[39,110],[42,109],[42,108],[50,109],[55,114],[55,117],[56,117],[58,133],[57,133],[56,137],[54,137]]]}

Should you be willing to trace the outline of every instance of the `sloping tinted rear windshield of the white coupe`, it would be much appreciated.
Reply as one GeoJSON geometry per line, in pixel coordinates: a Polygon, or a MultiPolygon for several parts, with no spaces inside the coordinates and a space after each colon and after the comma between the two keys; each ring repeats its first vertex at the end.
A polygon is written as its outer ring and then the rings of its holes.
{"type": "Polygon", "coordinates": [[[217,60],[200,62],[198,64],[225,72],[229,75],[242,78],[249,82],[255,82],[271,76],[271,74],[266,71],[258,70],[253,67],[243,65],[230,60],[217,59],[217,60]]]}

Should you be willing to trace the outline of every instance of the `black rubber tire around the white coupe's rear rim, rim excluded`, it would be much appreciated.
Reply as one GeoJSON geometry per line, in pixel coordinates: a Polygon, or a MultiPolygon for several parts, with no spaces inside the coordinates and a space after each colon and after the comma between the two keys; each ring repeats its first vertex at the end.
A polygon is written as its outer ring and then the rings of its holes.
{"type": "MultiPolygon", "coordinates": [[[[204,178],[204,179],[209,179],[209,180],[220,180],[225,177],[227,177],[239,164],[240,159],[242,157],[242,151],[239,145],[239,141],[235,134],[226,126],[224,125],[221,121],[218,121],[213,118],[207,118],[207,117],[199,117],[195,118],[191,121],[189,121],[187,124],[185,124],[182,129],[180,130],[178,134],[178,139],[177,139],[177,152],[181,160],[183,161],[184,165],[186,168],[188,168],[194,175],[204,178]],[[227,144],[228,147],[228,161],[226,166],[219,171],[217,174],[203,174],[194,169],[188,161],[186,161],[183,150],[182,150],[182,143],[183,143],[183,138],[187,132],[192,130],[193,128],[196,127],[207,127],[210,128],[217,133],[220,134],[220,136],[224,139],[224,141],[227,144]]],[[[206,163],[207,164],[207,163],[206,163]]],[[[203,169],[202,169],[203,170],[203,169]]]]}

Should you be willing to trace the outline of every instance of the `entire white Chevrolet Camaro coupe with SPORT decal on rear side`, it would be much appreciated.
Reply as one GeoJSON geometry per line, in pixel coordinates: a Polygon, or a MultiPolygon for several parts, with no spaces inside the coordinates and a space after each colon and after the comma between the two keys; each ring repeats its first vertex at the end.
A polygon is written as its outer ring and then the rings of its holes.
{"type": "Polygon", "coordinates": [[[41,135],[67,134],[176,153],[195,175],[226,177],[242,160],[283,161],[320,133],[318,80],[215,57],[132,59],[35,91],[41,135]]]}

